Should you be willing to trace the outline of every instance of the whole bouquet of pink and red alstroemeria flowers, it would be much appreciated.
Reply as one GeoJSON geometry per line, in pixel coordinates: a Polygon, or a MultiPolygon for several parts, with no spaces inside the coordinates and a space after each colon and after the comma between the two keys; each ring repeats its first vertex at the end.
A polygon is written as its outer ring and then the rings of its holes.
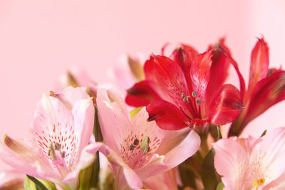
{"type": "Polygon", "coordinates": [[[117,87],[68,72],[39,100],[32,139],[4,135],[0,158],[14,169],[1,171],[0,189],[285,189],[285,127],[242,137],[285,99],[285,71],[269,68],[264,38],[248,86],[223,38],[204,53],[165,48],[126,56],[117,87]],[[225,83],[230,67],[238,88],[225,83]]]}

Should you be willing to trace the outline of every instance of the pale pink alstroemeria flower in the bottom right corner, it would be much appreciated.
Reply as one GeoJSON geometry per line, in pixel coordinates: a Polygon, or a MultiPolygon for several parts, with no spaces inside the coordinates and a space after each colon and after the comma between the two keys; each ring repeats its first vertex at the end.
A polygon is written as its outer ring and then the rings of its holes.
{"type": "Polygon", "coordinates": [[[285,180],[284,144],[285,127],[271,130],[258,139],[230,137],[214,143],[214,167],[222,176],[225,189],[280,187],[275,180],[285,180]]]}

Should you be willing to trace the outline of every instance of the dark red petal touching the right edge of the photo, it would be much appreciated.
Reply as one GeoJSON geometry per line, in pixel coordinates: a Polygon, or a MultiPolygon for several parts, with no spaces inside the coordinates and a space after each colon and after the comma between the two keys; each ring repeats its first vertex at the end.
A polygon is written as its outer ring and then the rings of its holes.
{"type": "Polygon", "coordinates": [[[257,83],[252,92],[244,125],[282,100],[285,100],[285,71],[273,73],[257,83]]]}

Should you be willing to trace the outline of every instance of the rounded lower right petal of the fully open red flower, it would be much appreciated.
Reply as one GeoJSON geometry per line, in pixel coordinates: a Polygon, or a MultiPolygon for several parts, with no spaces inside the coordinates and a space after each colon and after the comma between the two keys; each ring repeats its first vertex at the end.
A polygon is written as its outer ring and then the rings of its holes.
{"type": "Polygon", "coordinates": [[[210,122],[216,125],[226,125],[237,119],[242,111],[242,97],[234,85],[222,85],[212,97],[209,107],[210,122]]]}

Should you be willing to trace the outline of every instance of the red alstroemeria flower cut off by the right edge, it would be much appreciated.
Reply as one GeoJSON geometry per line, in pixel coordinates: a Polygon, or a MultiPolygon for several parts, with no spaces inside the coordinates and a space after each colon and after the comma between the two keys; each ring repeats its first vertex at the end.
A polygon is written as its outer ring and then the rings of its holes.
{"type": "MultiPolygon", "coordinates": [[[[223,46],[220,47],[224,49],[223,46]]],[[[244,110],[242,110],[237,120],[232,123],[229,136],[239,136],[250,121],[261,115],[272,105],[285,99],[285,71],[269,68],[269,48],[263,38],[257,41],[252,50],[247,90],[237,63],[231,56],[229,56],[229,60],[239,75],[244,103],[244,110]]]]}

